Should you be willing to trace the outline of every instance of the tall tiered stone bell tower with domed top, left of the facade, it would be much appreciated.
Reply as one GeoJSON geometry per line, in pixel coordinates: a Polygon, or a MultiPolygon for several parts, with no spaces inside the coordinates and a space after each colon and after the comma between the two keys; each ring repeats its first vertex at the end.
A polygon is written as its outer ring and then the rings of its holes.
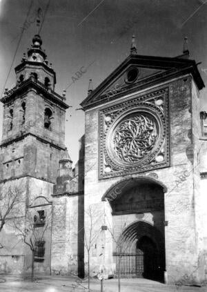
{"type": "MultiPolygon", "coordinates": [[[[65,94],[61,96],[55,93],[55,71],[52,64],[48,66],[46,52],[41,46],[41,37],[34,35],[28,57],[23,54],[21,64],[15,68],[16,86],[6,89],[1,98],[3,133],[0,144],[0,188],[15,186],[22,190],[23,199],[19,209],[35,209],[43,216],[43,221],[46,218],[51,222],[51,195],[59,174],[59,160],[67,156],[65,113],[68,105],[65,94]]],[[[18,212],[15,215],[18,216],[18,212]]],[[[31,251],[28,246],[18,242],[15,233],[10,229],[7,231],[7,228],[5,225],[1,240],[6,239],[8,249],[4,250],[4,255],[9,259],[8,270],[16,269],[13,255],[7,253],[11,250],[26,259],[18,264],[18,271],[27,272],[32,264],[31,251]],[[16,246],[15,251],[12,246],[16,246]]],[[[43,238],[37,239],[34,244],[35,265],[44,273],[50,271],[51,239],[50,224],[43,238]]]]}

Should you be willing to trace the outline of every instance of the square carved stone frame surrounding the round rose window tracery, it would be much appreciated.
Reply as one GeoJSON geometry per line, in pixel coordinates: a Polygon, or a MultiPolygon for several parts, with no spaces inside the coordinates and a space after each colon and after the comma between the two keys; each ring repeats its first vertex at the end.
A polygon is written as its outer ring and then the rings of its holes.
{"type": "Polygon", "coordinates": [[[143,173],[170,166],[168,95],[168,88],[161,88],[99,110],[99,179],[143,173]],[[141,159],[141,163],[137,162],[131,166],[117,164],[116,159],[113,161],[111,155],[108,155],[108,133],[111,128],[115,128],[115,124],[119,124],[122,117],[126,117],[128,113],[138,112],[155,115],[159,120],[161,135],[159,135],[157,148],[141,159]],[[162,157],[163,161],[160,162],[159,157],[162,157]],[[107,172],[107,169],[110,172],[107,172]]]}

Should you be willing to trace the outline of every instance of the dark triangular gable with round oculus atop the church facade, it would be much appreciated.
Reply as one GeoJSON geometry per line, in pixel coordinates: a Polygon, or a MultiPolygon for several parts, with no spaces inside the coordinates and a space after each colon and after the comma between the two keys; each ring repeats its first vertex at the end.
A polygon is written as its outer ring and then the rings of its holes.
{"type": "Polygon", "coordinates": [[[204,88],[194,60],[130,55],[81,102],[81,106],[86,110],[118,99],[126,92],[133,93],[186,74],[193,75],[199,89],[204,88]]]}

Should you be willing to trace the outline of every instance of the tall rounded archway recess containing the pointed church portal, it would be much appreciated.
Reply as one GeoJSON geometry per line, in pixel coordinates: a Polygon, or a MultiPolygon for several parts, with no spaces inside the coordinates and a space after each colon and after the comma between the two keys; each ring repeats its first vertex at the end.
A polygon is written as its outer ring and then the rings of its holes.
{"type": "Polygon", "coordinates": [[[164,186],[155,179],[128,179],[106,194],[118,239],[113,246],[122,278],[163,280],[165,271],[164,186]]]}

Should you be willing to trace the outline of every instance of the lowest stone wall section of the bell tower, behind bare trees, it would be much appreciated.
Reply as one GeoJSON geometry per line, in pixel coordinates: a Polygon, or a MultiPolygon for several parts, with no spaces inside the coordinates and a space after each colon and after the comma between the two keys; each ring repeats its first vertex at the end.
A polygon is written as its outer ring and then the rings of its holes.
{"type": "MultiPolygon", "coordinates": [[[[0,249],[0,271],[1,272],[17,272],[17,273],[30,273],[32,256],[31,251],[26,244],[23,243],[20,237],[17,237],[15,229],[12,227],[12,218],[25,214],[26,206],[30,206],[34,203],[34,199],[39,196],[46,197],[51,202],[51,193],[53,184],[45,182],[41,179],[35,179],[33,177],[22,177],[19,179],[12,179],[7,182],[1,183],[1,186],[19,186],[19,189],[23,189],[21,204],[18,208],[13,209],[10,214],[11,219],[8,218],[3,230],[0,233],[0,243],[5,246],[0,249]]],[[[46,204],[44,200],[43,204],[46,204]]],[[[51,205],[49,205],[49,208],[51,205]]],[[[52,208],[52,207],[51,207],[52,208]]],[[[39,206],[37,210],[45,210],[48,216],[50,216],[50,210],[48,206],[39,206]]],[[[33,210],[33,209],[32,209],[33,210]]],[[[52,218],[50,218],[49,225],[51,225],[52,218]]],[[[34,270],[37,272],[44,272],[50,274],[50,244],[51,244],[51,228],[46,228],[43,239],[45,244],[45,256],[43,262],[35,262],[34,270]]]]}

